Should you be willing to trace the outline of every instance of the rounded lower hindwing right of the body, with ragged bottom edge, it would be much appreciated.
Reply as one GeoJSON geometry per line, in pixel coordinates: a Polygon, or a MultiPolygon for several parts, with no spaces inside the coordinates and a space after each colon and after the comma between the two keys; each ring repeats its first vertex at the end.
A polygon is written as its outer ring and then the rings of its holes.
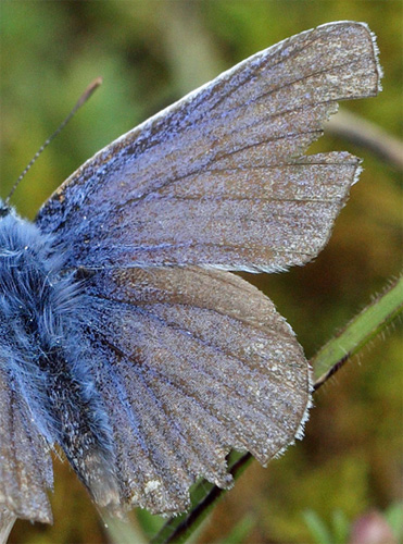
{"type": "Polygon", "coordinates": [[[123,504],[189,506],[198,477],[231,483],[231,447],[261,463],[301,434],[308,366],[259,289],[200,268],[114,269],[86,288],[97,387],[113,428],[123,504]]]}

